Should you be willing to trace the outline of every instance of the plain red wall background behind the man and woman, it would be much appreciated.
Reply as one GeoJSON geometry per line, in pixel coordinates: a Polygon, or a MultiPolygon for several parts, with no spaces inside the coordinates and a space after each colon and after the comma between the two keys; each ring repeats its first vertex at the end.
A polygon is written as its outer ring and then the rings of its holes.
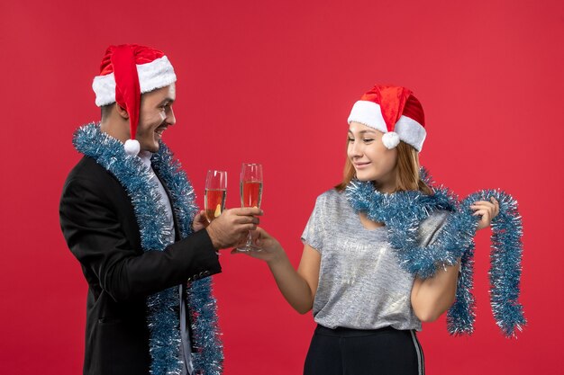
{"type": "MultiPolygon", "coordinates": [[[[489,229],[478,234],[478,318],[452,338],[420,335],[433,375],[555,374],[563,343],[561,1],[3,1],[0,373],[77,374],[86,281],[59,230],[71,135],[99,119],[90,85],[109,44],[166,52],[177,125],[165,135],[202,203],[208,168],[264,165],[262,226],[297,264],[314,199],[337,183],[346,118],[375,83],[414,90],[422,161],[460,195],[502,188],[520,202],[529,325],[503,338],[487,298],[489,229]]],[[[214,278],[225,374],[298,374],[311,314],[287,306],[265,264],[222,255],[214,278]]]]}

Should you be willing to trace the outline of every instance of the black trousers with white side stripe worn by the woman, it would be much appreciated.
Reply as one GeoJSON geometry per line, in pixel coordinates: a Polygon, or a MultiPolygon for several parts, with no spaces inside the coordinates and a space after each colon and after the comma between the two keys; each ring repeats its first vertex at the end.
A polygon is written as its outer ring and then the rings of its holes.
{"type": "Polygon", "coordinates": [[[315,328],[304,375],[424,375],[413,330],[315,328]]]}

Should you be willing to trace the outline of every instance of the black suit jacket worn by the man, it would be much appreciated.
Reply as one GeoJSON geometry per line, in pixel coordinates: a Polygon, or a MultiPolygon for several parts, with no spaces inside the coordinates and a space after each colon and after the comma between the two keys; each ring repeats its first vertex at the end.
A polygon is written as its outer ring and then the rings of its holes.
{"type": "Polygon", "coordinates": [[[207,231],[177,240],[164,251],[144,252],[123,186],[86,156],[68,174],[59,215],[68,247],[88,282],[84,374],[149,374],[145,299],[221,272],[207,231]]]}

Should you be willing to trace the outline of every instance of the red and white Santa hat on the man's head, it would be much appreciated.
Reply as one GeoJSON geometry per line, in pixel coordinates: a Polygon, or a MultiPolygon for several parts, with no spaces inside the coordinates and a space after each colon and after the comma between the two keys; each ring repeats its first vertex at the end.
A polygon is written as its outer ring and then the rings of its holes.
{"type": "Polygon", "coordinates": [[[94,77],[92,89],[96,105],[118,103],[129,114],[131,139],[125,142],[125,152],[137,155],[140,144],[135,139],[141,94],[176,82],[174,68],[162,51],[137,44],[110,46],[100,64],[100,76],[94,77]]]}

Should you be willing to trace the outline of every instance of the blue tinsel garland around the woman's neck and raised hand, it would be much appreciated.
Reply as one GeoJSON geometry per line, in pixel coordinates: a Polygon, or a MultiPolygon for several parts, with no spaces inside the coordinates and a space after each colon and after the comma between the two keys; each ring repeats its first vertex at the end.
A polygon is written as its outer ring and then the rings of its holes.
{"type": "Polygon", "coordinates": [[[416,277],[427,279],[439,268],[461,260],[456,300],[447,313],[451,335],[471,334],[474,331],[475,302],[472,295],[474,236],[478,217],[469,206],[475,201],[499,202],[499,214],[492,220],[490,302],[497,325],[506,336],[514,336],[526,324],[523,307],[519,304],[523,227],[517,211],[517,201],[501,191],[482,190],[459,201],[443,186],[432,183],[422,168],[422,178],[432,187],[432,194],[419,191],[382,193],[370,182],[353,180],[345,193],[356,212],[366,213],[368,219],[386,224],[390,245],[395,249],[401,267],[416,277]],[[450,212],[441,231],[428,246],[421,246],[418,228],[435,210],[450,212]]]}

